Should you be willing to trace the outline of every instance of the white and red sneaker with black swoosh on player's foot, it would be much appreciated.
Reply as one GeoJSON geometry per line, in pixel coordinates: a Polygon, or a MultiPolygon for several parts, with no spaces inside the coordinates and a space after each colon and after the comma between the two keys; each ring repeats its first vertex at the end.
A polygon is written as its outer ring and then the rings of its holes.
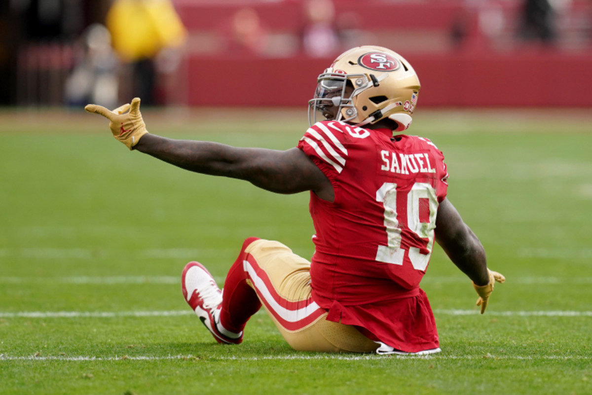
{"type": "Polygon", "coordinates": [[[189,262],[183,269],[181,289],[185,301],[218,343],[240,344],[243,332],[230,332],[220,323],[222,292],[214,277],[198,262],[189,262]]]}

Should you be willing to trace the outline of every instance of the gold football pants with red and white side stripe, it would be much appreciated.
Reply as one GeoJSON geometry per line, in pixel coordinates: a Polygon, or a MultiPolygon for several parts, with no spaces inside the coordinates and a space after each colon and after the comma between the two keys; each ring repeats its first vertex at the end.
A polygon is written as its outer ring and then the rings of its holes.
{"type": "MultiPolygon", "coordinates": [[[[377,343],[355,326],[327,321],[311,297],[310,262],[277,241],[256,239],[242,251],[247,284],[288,344],[299,351],[372,352],[377,343]]],[[[235,264],[241,264],[240,259],[235,264]]]]}

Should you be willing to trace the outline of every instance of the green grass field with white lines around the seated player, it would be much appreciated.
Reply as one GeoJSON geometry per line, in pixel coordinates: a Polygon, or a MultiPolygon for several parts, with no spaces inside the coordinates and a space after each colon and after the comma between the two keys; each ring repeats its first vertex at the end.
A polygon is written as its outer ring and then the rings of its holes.
{"type": "MultiPolygon", "coordinates": [[[[435,248],[423,281],[443,352],[292,351],[255,315],[237,347],[186,306],[185,263],[219,284],[244,238],[310,258],[308,195],[130,153],[100,116],[0,112],[0,394],[591,394],[590,111],[417,112],[496,287],[485,315],[435,248]]],[[[144,111],[149,130],[293,147],[305,110],[144,111]],[[269,116],[273,116],[273,121],[269,116]]]]}

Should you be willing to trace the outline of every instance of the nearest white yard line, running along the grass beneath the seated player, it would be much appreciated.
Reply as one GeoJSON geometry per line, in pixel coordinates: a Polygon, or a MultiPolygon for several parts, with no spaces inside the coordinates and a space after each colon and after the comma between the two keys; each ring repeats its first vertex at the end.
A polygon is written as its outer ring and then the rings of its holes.
{"type": "Polygon", "coordinates": [[[422,360],[515,360],[515,361],[540,361],[540,360],[556,360],[556,361],[568,361],[568,360],[590,360],[590,355],[261,355],[260,357],[233,357],[229,355],[218,356],[208,355],[207,357],[198,357],[195,355],[139,355],[136,357],[130,357],[128,355],[122,355],[114,357],[89,357],[89,356],[53,356],[49,355],[46,357],[28,355],[24,357],[4,355],[0,354],[0,361],[163,361],[163,360],[208,360],[208,361],[268,361],[268,360],[341,360],[341,361],[357,361],[357,360],[380,360],[382,358],[413,358],[422,360]]]}

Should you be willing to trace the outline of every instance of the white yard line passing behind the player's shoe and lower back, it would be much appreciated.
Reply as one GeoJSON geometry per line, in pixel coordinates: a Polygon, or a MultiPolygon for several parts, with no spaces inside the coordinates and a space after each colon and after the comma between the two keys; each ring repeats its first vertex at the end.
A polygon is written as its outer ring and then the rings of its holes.
{"type": "MultiPolygon", "coordinates": [[[[259,310],[258,313],[264,313],[259,310]]],[[[436,315],[480,315],[480,310],[435,309],[436,315]]],[[[0,318],[116,318],[116,317],[174,317],[193,315],[190,309],[165,311],[122,311],[122,312],[0,312],[0,318]]],[[[496,311],[487,310],[487,316],[544,316],[544,317],[592,317],[592,311],[548,310],[548,311],[496,311]]]]}

